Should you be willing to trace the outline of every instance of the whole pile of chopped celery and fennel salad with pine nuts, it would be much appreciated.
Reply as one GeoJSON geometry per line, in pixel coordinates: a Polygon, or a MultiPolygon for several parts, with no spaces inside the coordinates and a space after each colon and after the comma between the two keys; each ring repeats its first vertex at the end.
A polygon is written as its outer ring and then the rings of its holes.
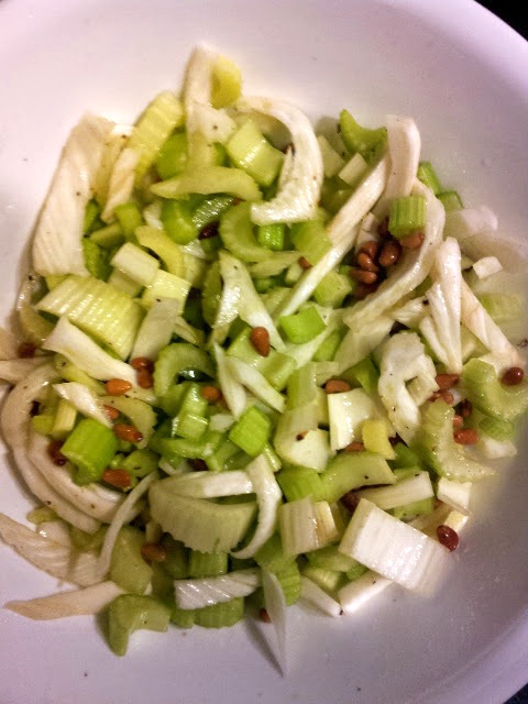
{"type": "Polygon", "coordinates": [[[133,127],[86,116],[43,206],[1,424],[38,501],[0,536],[139,628],[431,588],[528,407],[524,263],[411,118],[316,134],[197,48],[133,127]]]}

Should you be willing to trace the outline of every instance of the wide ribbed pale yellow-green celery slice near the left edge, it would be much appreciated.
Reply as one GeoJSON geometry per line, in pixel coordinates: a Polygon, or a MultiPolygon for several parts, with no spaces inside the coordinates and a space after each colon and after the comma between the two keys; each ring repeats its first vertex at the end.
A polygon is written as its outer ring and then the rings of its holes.
{"type": "Polygon", "coordinates": [[[143,318],[141,306],[128,294],[91,276],[66,277],[37,308],[67,317],[123,360],[130,354],[143,318]]]}

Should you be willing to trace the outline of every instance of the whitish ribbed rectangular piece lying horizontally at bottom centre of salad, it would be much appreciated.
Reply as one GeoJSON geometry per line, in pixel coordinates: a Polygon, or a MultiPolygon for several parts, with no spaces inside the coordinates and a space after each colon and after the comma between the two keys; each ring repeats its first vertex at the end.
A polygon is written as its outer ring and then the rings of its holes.
{"type": "Polygon", "coordinates": [[[252,594],[261,584],[261,570],[249,568],[229,574],[174,582],[176,606],[185,610],[222,604],[252,594]]]}

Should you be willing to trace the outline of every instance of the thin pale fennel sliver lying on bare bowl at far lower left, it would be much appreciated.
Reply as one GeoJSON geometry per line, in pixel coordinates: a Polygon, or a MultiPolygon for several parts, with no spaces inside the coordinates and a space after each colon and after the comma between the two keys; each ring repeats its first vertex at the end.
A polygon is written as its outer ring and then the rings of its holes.
{"type": "Polygon", "coordinates": [[[123,594],[123,592],[124,590],[118,586],[116,582],[107,581],[81,590],[59,592],[50,596],[31,598],[26,602],[8,602],[4,608],[35,620],[51,620],[66,618],[67,616],[90,616],[101,612],[116,596],[123,594]]]}

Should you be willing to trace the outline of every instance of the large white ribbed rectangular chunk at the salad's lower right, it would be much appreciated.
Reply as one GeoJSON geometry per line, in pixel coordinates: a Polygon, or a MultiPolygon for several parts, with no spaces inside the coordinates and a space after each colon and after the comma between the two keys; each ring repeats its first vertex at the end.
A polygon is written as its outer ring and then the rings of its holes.
{"type": "Polygon", "coordinates": [[[447,550],[416,528],[362,498],[339,549],[383,576],[415,591],[429,591],[447,550]]]}

